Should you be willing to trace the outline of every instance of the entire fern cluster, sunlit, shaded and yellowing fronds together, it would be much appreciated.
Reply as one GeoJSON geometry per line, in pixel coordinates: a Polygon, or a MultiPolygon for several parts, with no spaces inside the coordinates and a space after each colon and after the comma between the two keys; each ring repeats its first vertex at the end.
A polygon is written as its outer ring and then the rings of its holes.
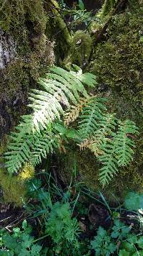
{"type": "Polygon", "coordinates": [[[134,122],[122,122],[115,114],[107,114],[107,99],[89,96],[84,88],[84,84],[96,84],[96,77],[82,74],[79,68],[77,71],[54,67],[46,78],[39,79],[43,91],[32,90],[29,96],[33,112],[22,116],[16,132],[11,132],[5,155],[9,173],[19,171],[26,162],[41,163],[42,157],[68,139],[77,142],[81,150],[88,148],[94,152],[102,165],[99,180],[103,186],[120,166],[132,160],[133,139],[138,134],[134,122]],[[69,129],[75,120],[77,130],[69,129]]]}

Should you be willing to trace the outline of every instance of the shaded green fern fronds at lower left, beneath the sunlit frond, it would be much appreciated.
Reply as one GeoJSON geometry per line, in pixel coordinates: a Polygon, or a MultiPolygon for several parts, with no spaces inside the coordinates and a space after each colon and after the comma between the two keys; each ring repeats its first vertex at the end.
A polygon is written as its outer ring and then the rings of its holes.
{"type": "Polygon", "coordinates": [[[41,163],[41,157],[46,157],[58,146],[58,138],[48,129],[34,134],[25,133],[21,140],[17,140],[17,133],[13,132],[9,151],[5,154],[6,168],[12,174],[29,161],[32,165],[41,163]]]}

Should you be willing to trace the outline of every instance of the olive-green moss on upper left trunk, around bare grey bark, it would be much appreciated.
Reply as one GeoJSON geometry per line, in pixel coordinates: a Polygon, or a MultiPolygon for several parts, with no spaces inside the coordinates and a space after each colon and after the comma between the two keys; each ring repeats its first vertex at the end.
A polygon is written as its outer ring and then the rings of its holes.
{"type": "MultiPolygon", "coordinates": [[[[53,45],[45,35],[48,16],[42,0],[5,1],[1,9],[1,28],[16,44],[16,56],[2,76],[8,78],[8,88],[29,86],[54,62],[53,45]]],[[[6,84],[7,81],[4,80],[6,84]]],[[[3,91],[4,83],[1,85],[3,91]]]]}

